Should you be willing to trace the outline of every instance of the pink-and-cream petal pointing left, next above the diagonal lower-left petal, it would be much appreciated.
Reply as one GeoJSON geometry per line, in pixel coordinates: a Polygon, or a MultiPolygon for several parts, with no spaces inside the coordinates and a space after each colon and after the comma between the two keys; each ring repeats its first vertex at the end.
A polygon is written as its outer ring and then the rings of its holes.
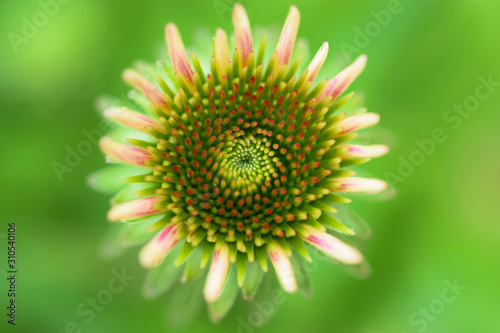
{"type": "Polygon", "coordinates": [[[153,196],[115,204],[108,212],[108,220],[116,222],[158,214],[165,210],[163,207],[158,205],[158,203],[164,200],[164,197],[153,196]]]}

